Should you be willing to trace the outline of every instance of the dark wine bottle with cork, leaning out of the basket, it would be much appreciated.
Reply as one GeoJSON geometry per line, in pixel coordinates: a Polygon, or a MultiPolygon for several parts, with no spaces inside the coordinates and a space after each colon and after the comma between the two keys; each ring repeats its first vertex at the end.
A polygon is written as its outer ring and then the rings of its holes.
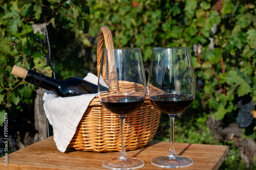
{"type": "Polygon", "coordinates": [[[26,70],[16,65],[14,65],[11,74],[23,78],[26,82],[49,90],[61,97],[98,92],[97,85],[76,77],[60,81],[39,74],[38,72],[35,72],[33,70],[26,70]]]}

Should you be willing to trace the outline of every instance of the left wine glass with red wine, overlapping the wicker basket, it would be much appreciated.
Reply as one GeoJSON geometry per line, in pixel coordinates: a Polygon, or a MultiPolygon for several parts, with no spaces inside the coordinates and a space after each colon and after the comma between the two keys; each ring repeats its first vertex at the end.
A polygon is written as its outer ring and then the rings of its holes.
{"type": "Polygon", "coordinates": [[[146,79],[140,48],[103,49],[98,95],[106,110],[118,115],[121,123],[121,153],[119,158],[105,160],[110,169],[135,169],[145,162],[129,158],[125,152],[125,117],[137,111],[146,98],[146,79]]]}

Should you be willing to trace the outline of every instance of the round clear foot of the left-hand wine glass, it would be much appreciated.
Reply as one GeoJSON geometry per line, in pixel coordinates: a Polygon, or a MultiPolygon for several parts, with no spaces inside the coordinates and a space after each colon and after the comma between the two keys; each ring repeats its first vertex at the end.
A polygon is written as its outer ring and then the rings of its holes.
{"type": "Polygon", "coordinates": [[[112,158],[102,162],[102,166],[109,169],[136,169],[144,166],[145,162],[137,158],[119,159],[112,158]]]}

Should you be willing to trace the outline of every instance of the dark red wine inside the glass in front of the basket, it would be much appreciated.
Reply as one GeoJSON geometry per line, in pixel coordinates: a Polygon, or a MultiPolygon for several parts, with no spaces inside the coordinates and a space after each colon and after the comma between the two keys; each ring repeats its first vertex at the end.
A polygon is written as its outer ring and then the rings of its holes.
{"type": "Polygon", "coordinates": [[[111,113],[124,116],[137,111],[143,105],[144,100],[140,96],[121,95],[102,98],[100,103],[111,113]]]}

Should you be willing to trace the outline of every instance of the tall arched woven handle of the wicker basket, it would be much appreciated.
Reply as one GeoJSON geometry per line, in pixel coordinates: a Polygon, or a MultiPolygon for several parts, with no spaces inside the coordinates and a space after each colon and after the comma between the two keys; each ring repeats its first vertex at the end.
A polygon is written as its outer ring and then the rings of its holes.
{"type": "MultiPolygon", "coordinates": [[[[106,49],[108,49],[108,58],[109,58],[109,75],[106,75],[105,72],[102,73],[102,77],[109,78],[109,91],[119,91],[119,85],[117,81],[117,69],[114,56],[114,43],[112,38],[112,33],[108,26],[100,28],[97,42],[97,76],[99,77],[100,63],[102,60],[102,53],[104,43],[106,49]]],[[[103,64],[103,67],[106,67],[106,63],[103,64]]]]}

